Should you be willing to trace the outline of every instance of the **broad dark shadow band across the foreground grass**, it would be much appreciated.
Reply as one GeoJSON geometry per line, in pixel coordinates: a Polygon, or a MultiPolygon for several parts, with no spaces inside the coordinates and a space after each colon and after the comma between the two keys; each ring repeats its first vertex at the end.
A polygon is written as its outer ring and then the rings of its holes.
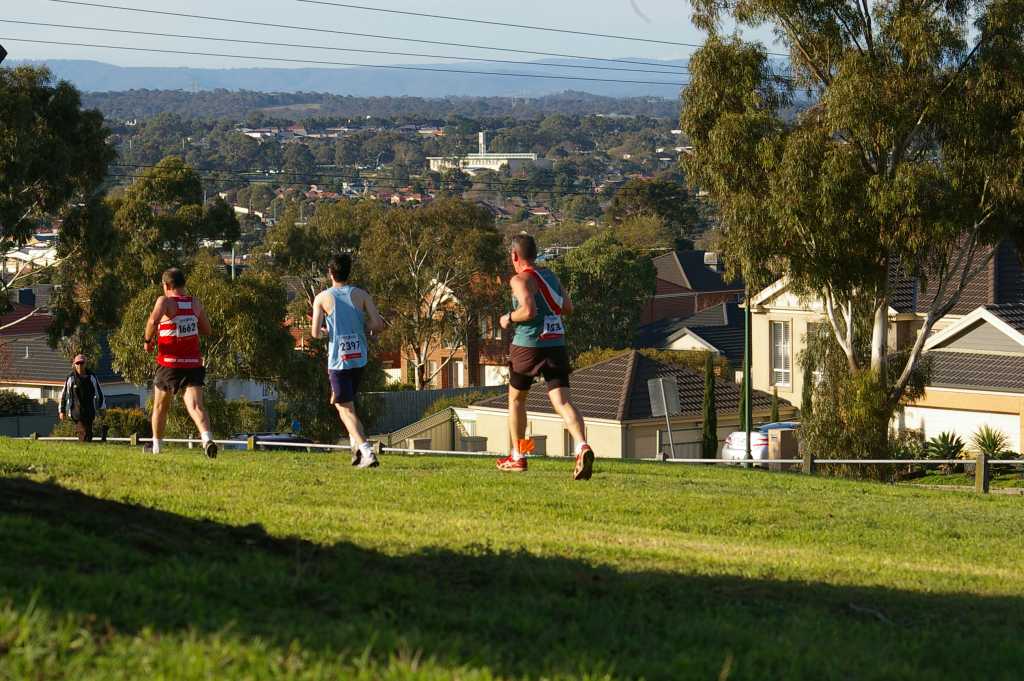
{"type": "Polygon", "coordinates": [[[624,572],[485,547],[395,557],[0,478],[0,601],[33,594],[122,633],[229,628],[326,658],[372,643],[529,678],[716,679],[729,658],[730,679],[1009,679],[1024,664],[1021,597],[624,572]]]}

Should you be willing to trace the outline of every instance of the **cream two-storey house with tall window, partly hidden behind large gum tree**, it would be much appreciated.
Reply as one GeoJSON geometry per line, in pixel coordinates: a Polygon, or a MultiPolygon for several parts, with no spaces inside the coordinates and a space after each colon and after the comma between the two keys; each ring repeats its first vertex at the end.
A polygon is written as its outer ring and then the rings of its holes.
{"type": "MultiPolygon", "coordinates": [[[[889,344],[904,348],[912,344],[924,324],[931,291],[918,279],[891,274],[893,295],[889,308],[889,344]]],[[[979,306],[1024,302],[1024,269],[1012,244],[1004,243],[985,270],[971,280],[949,314],[933,330],[938,334],[971,314],[979,306]]],[[[804,373],[800,353],[806,346],[811,325],[827,324],[822,301],[802,298],[782,278],[751,300],[753,386],[778,390],[780,397],[800,405],[804,373]]],[[[1024,381],[1024,376],[1020,377],[1024,381]]]]}

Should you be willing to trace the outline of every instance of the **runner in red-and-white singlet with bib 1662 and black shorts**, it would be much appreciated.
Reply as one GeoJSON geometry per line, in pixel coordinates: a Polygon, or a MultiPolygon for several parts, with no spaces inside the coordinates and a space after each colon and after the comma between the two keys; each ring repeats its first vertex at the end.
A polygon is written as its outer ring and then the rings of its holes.
{"type": "Polygon", "coordinates": [[[164,272],[161,281],[164,295],[157,299],[145,323],[145,351],[153,352],[157,347],[157,373],[153,380],[153,444],[145,451],[160,454],[171,398],[184,390],[185,409],[199,428],[203,451],[213,459],[217,456],[217,445],[210,431],[210,415],[203,405],[206,368],[199,347],[199,337],[209,336],[212,331],[210,321],[200,301],[185,291],[184,272],[172,267],[164,272]]]}

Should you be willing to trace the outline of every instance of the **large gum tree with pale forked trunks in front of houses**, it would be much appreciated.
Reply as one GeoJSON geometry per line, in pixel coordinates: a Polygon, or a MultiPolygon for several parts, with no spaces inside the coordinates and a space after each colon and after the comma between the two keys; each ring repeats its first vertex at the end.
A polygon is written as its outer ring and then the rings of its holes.
{"type": "Polygon", "coordinates": [[[681,125],[688,179],[755,285],[825,303],[884,432],[933,325],[1024,219],[1020,0],[694,0],[708,32],[681,125]],[[788,58],[726,36],[769,27],[788,58]],[[927,279],[922,329],[894,355],[890,272],[927,279]]]}

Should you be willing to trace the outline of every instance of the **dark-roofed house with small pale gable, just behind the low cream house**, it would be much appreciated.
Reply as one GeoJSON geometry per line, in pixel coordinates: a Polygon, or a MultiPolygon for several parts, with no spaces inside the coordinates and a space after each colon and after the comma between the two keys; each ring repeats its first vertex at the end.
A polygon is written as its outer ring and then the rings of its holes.
{"type": "Polygon", "coordinates": [[[702,350],[738,366],[743,361],[743,309],[739,303],[719,303],[692,316],[673,316],[640,327],[636,348],[702,350]]]}

